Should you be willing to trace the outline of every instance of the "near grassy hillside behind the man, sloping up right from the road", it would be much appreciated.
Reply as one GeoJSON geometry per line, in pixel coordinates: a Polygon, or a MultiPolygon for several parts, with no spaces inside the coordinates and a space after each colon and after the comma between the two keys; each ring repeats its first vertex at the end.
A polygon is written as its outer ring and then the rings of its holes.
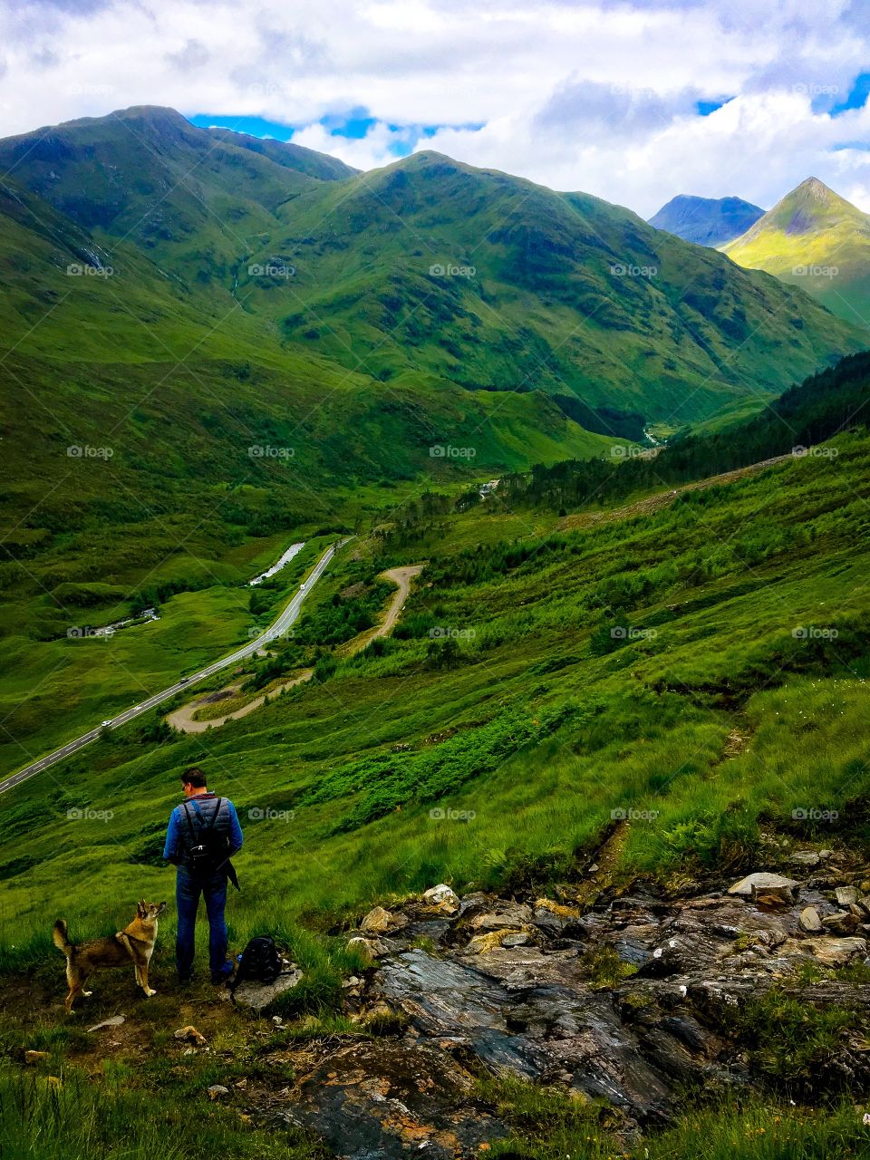
{"type": "Polygon", "coordinates": [[[348,545],[327,603],[430,561],[392,640],[222,728],[155,744],[137,725],[10,793],[6,954],[37,952],[59,891],[90,926],[131,873],[137,896],[165,893],[162,820],[193,761],[248,831],[237,941],[267,914],[329,925],[443,878],[567,873],[614,810],[655,812],[625,872],[751,868],[762,821],[822,825],[795,810],[834,810],[824,825],[865,842],[870,443],[834,447],[588,529],[492,542],[474,509],[422,520],[403,548],[348,545]],[[463,520],[478,544],[457,553],[463,520]],[[281,820],[248,818],[267,806],[281,820]],[[82,807],[111,817],[66,817],[82,807]],[[447,807],[465,820],[430,813],[447,807]],[[87,902],[71,890],[86,879],[87,902]]]}

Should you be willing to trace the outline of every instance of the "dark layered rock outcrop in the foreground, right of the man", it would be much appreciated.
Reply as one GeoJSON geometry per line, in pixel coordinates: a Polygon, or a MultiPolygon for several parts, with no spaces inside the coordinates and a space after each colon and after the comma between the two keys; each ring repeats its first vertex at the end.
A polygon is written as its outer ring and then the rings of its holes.
{"type": "MultiPolygon", "coordinates": [[[[802,864],[827,872],[828,857],[802,864]]],[[[607,1101],[630,1139],[666,1124],[687,1085],[762,1086],[738,1023],[770,988],[870,1009],[870,986],[832,974],[868,956],[863,894],[842,882],[759,871],[683,898],[643,884],[592,905],[580,886],[554,893],[458,898],[442,884],[371,911],[351,937],[371,949],[369,967],[346,1003],[390,1034],[333,1049],[281,1117],[348,1160],[478,1155],[507,1129],[476,1099],[474,1075],[507,1073],[607,1101]]],[[[867,1053],[843,1052],[843,1076],[870,1087],[867,1053]]]]}

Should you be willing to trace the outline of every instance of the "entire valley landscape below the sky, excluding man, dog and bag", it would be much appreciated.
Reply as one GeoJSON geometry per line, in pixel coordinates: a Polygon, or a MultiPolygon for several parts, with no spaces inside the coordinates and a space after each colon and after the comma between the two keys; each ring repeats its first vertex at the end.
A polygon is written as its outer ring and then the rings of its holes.
{"type": "Polygon", "coordinates": [[[0,139],[0,1155],[864,1154],[861,211],[428,144],[0,139]],[[191,768],[259,1003],[177,978],[191,768]]]}

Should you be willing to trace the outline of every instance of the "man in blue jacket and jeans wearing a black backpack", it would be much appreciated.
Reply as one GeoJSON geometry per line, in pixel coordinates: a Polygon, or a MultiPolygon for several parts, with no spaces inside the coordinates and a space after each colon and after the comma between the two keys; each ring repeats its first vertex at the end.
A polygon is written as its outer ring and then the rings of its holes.
{"type": "Polygon", "coordinates": [[[175,938],[175,965],[181,983],[194,974],[194,930],[200,894],[209,916],[209,964],[211,981],[226,983],[233,964],[226,960],[226,879],[238,889],[230,858],[241,849],[242,834],[235,806],[229,798],[216,797],[208,789],[205,774],[196,766],[181,775],[186,802],[169,815],[164,857],[179,868],[175,902],[179,928],[175,938]]]}

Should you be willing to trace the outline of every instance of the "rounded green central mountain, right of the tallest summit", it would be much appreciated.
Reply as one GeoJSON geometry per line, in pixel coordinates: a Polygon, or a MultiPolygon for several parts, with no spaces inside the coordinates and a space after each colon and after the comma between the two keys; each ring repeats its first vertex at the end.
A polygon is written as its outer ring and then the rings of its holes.
{"type": "MultiPolygon", "coordinates": [[[[575,393],[688,421],[802,377],[848,338],[802,296],[628,210],[419,153],[307,191],[240,278],[292,341],[372,372],[575,393]]],[[[854,347],[850,346],[851,349],[854,347]]]]}

